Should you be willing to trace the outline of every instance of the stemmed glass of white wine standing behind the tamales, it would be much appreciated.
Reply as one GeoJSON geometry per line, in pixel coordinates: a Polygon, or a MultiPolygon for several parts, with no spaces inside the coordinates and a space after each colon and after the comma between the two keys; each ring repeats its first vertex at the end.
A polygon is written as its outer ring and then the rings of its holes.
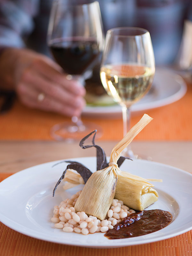
{"type": "MultiPolygon", "coordinates": [[[[149,91],[154,74],[153,46],[146,29],[108,30],[100,78],[107,93],[122,107],[124,135],[130,129],[130,107],[149,91]]],[[[134,157],[131,148],[124,155],[134,157]]]]}

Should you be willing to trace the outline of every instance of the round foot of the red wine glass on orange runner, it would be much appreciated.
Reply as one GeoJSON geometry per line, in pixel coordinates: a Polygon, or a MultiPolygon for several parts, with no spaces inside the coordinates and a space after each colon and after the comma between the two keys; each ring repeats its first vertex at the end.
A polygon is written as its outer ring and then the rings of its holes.
{"type": "Polygon", "coordinates": [[[51,128],[51,136],[54,140],[66,141],[68,143],[73,143],[75,141],[80,141],[90,132],[97,130],[96,140],[102,136],[101,127],[93,124],[91,122],[84,121],[81,125],[76,125],[75,123],[63,122],[60,124],[55,124],[51,128]]]}

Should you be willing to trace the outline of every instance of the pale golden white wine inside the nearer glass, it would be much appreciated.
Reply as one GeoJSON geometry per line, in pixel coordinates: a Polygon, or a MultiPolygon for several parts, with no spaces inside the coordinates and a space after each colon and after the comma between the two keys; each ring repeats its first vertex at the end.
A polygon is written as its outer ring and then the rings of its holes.
{"type": "Polygon", "coordinates": [[[106,65],[100,70],[101,82],[120,105],[130,107],[148,92],[155,68],[133,64],[106,65]]]}

